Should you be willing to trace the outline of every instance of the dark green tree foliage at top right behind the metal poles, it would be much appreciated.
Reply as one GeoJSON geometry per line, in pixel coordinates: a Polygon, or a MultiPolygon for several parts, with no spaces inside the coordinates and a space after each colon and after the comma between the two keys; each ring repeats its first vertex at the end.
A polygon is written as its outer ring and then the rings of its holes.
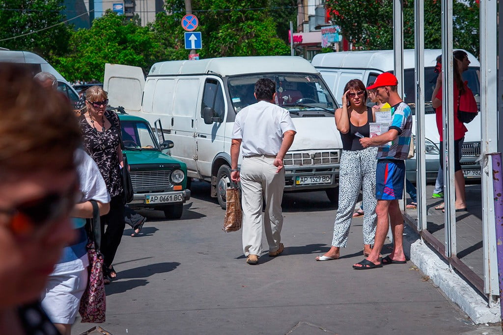
{"type": "MultiPolygon", "coordinates": [[[[393,48],[393,1],[326,0],[332,22],[357,48],[377,50],[393,48]]],[[[441,2],[425,1],[425,48],[439,49],[441,40],[441,2]]],[[[478,56],[479,8],[477,0],[453,4],[453,46],[478,56]]],[[[403,1],[403,41],[406,49],[414,48],[414,2],[403,1]]]]}

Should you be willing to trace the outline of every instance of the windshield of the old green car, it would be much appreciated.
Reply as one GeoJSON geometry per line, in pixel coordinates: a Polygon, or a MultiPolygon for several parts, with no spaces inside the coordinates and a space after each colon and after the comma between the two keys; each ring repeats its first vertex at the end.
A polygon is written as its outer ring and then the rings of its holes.
{"type": "Polygon", "coordinates": [[[144,122],[121,121],[122,142],[126,149],[158,150],[150,126],[144,122]]]}

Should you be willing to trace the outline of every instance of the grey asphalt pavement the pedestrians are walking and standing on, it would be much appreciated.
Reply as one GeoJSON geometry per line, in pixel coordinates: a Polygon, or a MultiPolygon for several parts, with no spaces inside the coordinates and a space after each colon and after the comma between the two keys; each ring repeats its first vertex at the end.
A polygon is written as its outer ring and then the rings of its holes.
{"type": "MultiPolygon", "coordinates": [[[[362,219],[353,221],[348,248],[336,261],[328,250],[336,214],[324,192],[286,194],[276,258],[245,264],[241,232],[224,233],[224,211],[209,185],[194,182],[180,220],[148,217],[142,235],[126,229],[107,286],[112,334],[482,334],[412,263],[357,271],[362,219]]],[[[128,226],[127,226],[128,227],[128,226]]],[[[383,254],[389,253],[385,249],[383,254]]],[[[72,333],[93,324],[77,318],[72,333]]]]}

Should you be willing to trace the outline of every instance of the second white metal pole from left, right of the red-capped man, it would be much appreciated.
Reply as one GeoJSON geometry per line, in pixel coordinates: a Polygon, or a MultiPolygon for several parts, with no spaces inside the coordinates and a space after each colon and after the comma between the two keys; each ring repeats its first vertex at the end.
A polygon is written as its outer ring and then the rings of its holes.
{"type": "Polygon", "coordinates": [[[414,48],[415,48],[415,161],[417,172],[417,230],[427,228],[426,207],[426,156],[425,156],[425,4],[414,2],[414,48]]]}

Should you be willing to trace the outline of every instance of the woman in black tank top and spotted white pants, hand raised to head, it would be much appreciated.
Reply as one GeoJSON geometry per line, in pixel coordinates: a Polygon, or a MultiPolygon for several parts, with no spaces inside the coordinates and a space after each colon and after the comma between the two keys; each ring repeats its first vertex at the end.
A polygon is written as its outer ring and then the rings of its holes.
{"type": "Polygon", "coordinates": [[[365,216],[363,218],[364,255],[370,253],[374,243],[377,215],[375,197],[377,148],[364,149],[361,137],[370,136],[369,123],[374,121],[371,107],[367,107],[367,90],[359,79],[352,79],[344,88],[343,107],[336,110],[337,129],[343,141],[339,171],[339,209],[333,225],[332,247],[317,261],[338,259],[340,248],[345,248],[355,204],[363,186],[365,216]]]}

